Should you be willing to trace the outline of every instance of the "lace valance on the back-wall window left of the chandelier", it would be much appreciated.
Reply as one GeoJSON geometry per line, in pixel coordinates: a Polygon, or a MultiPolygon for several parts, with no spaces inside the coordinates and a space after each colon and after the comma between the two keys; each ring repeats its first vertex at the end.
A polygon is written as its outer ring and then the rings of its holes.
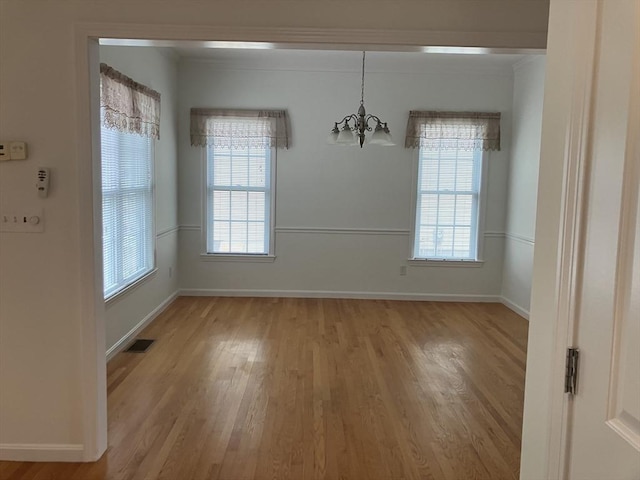
{"type": "Polygon", "coordinates": [[[289,148],[287,112],[192,108],[191,145],[289,148]]]}

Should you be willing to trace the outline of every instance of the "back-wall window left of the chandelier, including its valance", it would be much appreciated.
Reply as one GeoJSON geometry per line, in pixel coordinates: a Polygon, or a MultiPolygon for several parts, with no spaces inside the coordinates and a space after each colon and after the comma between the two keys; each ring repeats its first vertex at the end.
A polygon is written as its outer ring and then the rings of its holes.
{"type": "Polygon", "coordinates": [[[204,150],[203,258],[272,261],[276,151],[289,148],[287,112],[192,108],[191,145],[204,150]]]}

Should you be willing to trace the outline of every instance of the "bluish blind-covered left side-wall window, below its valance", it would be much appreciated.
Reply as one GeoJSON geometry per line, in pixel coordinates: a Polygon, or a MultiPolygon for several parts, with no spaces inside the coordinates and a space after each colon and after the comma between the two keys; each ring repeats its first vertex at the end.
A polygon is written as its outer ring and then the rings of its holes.
{"type": "Polygon", "coordinates": [[[101,129],[104,296],[154,268],[152,139],[101,129]]]}

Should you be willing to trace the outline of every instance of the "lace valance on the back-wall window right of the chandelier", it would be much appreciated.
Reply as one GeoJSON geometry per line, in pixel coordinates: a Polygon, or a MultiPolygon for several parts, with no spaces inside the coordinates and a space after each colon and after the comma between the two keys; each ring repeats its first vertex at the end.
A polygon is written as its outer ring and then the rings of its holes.
{"type": "Polygon", "coordinates": [[[411,111],[404,146],[500,150],[500,112],[411,111]]]}

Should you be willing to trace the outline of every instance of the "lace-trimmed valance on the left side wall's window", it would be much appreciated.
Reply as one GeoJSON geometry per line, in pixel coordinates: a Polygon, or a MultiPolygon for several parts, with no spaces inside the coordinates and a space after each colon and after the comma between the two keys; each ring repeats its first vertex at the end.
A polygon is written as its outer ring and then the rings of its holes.
{"type": "Polygon", "coordinates": [[[100,107],[107,128],[160,138],[160,94],[100,64],[100,107]]]}

